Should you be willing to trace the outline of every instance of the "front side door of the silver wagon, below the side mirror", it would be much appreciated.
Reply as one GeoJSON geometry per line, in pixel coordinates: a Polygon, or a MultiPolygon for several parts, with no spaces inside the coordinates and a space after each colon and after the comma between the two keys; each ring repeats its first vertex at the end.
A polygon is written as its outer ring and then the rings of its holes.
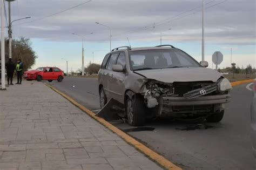
{"type": "Polygon", "coordinates": [[[118,101],[123,100],[124,90],[125,90],[125,84],[124,79],[126,77],[126,62],[125,62],[125,53],[120,52],[118,58],[117,58],[117,65],[122,65],[124,71],[123,72],[115,72],[112,71],[110,74],[110,91],[112,93],[112,96],[114,99],[117,99],[118,101]]]}

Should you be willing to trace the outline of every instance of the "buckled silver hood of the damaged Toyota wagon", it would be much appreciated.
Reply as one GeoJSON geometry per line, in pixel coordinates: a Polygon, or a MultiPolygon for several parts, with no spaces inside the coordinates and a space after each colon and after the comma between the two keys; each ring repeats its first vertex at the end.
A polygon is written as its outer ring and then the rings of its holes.
{"type": "Polygon", "coordinates": [[[165,83],[188,81],[217,81],[222,74],[205,67],[181,67],[170,69],[154,69],[134,71],[148,79],[154,79],[165,83]]]}

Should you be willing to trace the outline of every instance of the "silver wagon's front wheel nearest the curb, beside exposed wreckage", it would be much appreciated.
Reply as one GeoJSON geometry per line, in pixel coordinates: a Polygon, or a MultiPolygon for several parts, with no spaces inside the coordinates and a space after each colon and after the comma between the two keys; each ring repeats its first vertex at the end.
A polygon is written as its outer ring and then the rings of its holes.
{"type": "Polygon", "coordinates": [[[131,126],[143,126],[145,122],[145,104],[141,96],[127,96],[125,103],[128,124],[131,126]]]}

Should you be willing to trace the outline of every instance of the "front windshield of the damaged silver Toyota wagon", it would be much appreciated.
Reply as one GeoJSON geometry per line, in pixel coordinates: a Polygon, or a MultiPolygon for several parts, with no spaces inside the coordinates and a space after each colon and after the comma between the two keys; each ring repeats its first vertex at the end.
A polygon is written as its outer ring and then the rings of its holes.
{"type": "Polygon", "coordinates": [[[180,50],[142,50],[130,52],[130,67],[136,71],[201,65],[180,50]]]}

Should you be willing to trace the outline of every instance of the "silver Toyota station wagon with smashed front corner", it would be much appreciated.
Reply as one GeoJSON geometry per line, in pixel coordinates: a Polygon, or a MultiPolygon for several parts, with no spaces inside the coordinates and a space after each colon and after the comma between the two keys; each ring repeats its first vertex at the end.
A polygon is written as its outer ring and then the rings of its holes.
{"type": "Polygon", "coordinates": [[[100,107],[116,101],[124,110],[120,116],[132,126],[156,117],[219,122],[232,87],[207,66],[172,45],[118,47],[99,70],[100,107]]]}

